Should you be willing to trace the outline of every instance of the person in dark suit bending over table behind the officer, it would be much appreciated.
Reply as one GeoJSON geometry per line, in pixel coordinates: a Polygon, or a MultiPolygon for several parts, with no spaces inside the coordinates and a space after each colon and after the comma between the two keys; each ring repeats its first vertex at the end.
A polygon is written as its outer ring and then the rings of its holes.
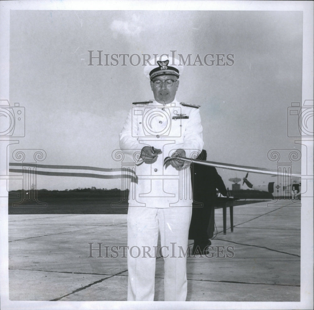
{"type": "MultiPolygon", "coordinates": [[[[203,149],[197,160],[206,161],[206,158],[207,153],[203,149]]],[[[216,189],[224,196],[228,196],[228,191],[215,167],[194,162],[191,165],[191,181],[193,208],[189,239],[194,240],[192,255],[205,254],[206,248],[211,245],[209,238],[212,238],[214,234],[216,189]]]]}

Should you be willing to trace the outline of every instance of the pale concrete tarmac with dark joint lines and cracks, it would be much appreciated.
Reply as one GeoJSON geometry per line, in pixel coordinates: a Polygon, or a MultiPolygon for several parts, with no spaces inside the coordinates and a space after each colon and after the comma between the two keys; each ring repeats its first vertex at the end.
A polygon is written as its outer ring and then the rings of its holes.
{"type": "MultiPolygon", "coordinates": [[[[235,206],[226,235],[215,210],[209,257],[187,258],[187,301],[300,301],[301,210],[286,204],[235,206]]],[[[8,237],[10,300],[127,300],[127,215],[9,215],[8,237]]],[[[163,274],[158,257],[156,301],[164,298],[163,274]]]]}

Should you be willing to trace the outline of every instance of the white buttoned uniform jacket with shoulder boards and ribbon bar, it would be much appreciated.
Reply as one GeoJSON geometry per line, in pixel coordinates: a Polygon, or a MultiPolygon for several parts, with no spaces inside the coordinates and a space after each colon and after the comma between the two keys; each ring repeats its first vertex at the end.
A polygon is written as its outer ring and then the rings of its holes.
{"type": "Polygon", "coordinates": [[[203,149],[199,109],[178,101],[134,104],[120,133],[120,148],[134,162],[137,182],[130,183],[129,204],[150,208],[191,206],[189,164],[177,170],[164,166],[166,157],[184,149],[194,159],[203,149]],[[157,161],[146,164],[139,155],[144,146],[161,149],[157,161]]]}

